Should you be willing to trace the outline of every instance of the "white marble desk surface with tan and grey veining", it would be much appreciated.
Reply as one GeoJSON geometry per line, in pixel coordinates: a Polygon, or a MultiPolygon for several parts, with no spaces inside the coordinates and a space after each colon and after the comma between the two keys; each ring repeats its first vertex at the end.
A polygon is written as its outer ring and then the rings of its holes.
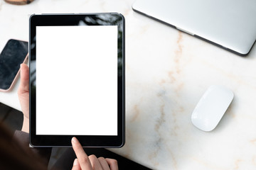
{"type": "MultiPolygon", "coordinates": [[[[118,12],[126,20],[126,144],[111,149],[151,169],[256,169],[256,45],[247,57],[132,11],[133,0],[0,1],[0,50],[28,40],[32,13],[118,12]],[[191,123],[208,86],[235,98],[212,132],[191,123]]],[[[19,81],[18,81],[19,83],[19,81]]],[[[0,102],[21,110],[17,86],[0,102]]]]}

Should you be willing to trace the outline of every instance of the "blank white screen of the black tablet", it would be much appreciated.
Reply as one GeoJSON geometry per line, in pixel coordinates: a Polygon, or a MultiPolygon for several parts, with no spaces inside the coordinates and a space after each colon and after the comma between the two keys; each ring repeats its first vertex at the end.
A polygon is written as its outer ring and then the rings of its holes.
{"type": "Polygon", "coordinates": [[[117,26],[36,27],[36,135],[117,135],[117,26]]]}

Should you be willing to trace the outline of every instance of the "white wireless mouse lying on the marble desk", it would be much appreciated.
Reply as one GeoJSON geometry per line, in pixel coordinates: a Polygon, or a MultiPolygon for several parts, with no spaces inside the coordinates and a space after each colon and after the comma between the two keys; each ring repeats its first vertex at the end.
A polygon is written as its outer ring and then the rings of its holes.
{"type": "Polygon", "coordinates": [[[227,111],[233,98],[233,92],[224,86],[210,86],[191,115],[193,125],[207,132],[213,130],[227,111]]]}

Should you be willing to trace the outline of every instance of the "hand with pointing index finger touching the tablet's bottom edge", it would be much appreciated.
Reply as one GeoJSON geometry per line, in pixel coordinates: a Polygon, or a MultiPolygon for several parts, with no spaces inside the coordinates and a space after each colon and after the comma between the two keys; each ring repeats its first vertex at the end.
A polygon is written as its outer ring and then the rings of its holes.
{"type": "Polygon", "coordinates": [[[73,137],[71,143],[75,151],[75,155],[77,156],[72,170],[118,170],[117,160],[108,158],[105,159],[103,157],[97,158],[94,154],[88,157],[77,138],[73,137]]]}

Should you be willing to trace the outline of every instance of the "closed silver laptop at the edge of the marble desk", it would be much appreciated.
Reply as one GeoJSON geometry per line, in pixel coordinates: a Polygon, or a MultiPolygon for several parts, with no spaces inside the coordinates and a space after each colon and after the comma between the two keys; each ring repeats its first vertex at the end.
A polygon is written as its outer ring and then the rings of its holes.
{"type": "Polygon", "coordinates": [[[132,8],[238,55],[256,40],[256,0],[137,0],[132,8]]]}

